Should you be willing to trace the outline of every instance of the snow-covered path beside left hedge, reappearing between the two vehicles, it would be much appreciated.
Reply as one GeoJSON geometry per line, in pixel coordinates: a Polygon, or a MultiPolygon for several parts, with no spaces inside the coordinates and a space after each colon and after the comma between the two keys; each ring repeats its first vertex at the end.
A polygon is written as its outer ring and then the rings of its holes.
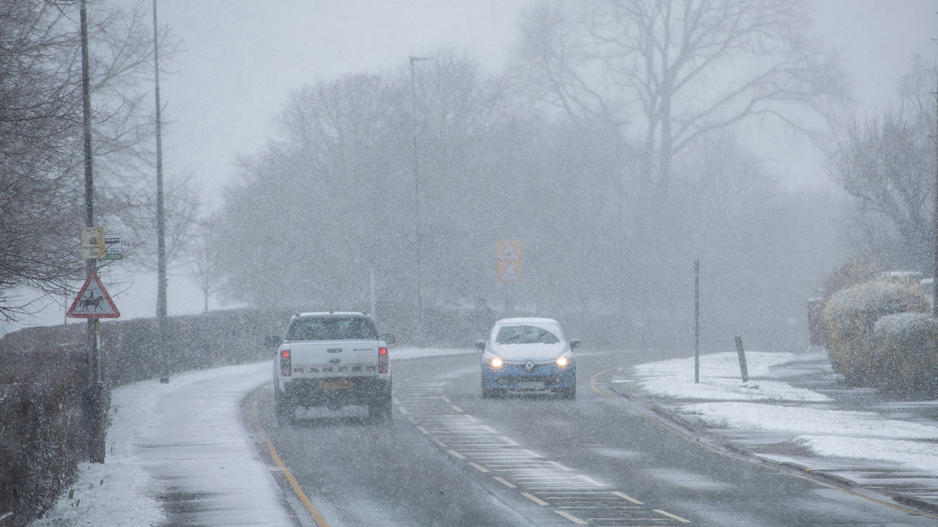
{"type": "MultiPolygon", "coordinates": [[[[477,353],[401,347],[391,356],[477,353]]],[[[241,400],[270,376],[263,361],[114,388],[104,464],[81,463],[75,485],[30,525],[159,525],[160,502],[191,497],[210,503],[193,513],[199,525],[292,525],[241,420],[241,400]]]]}

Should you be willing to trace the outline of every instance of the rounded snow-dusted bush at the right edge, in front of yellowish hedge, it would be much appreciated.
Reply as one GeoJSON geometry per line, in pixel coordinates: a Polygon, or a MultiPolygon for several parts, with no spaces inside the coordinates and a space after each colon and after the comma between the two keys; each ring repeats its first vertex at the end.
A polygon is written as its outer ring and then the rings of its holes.
{"type": "Polygon", "coordinates": [[[896,313],[873,325],[871,370],[892,391],[938,395],[938,321],[927,313],[896,313]]]}

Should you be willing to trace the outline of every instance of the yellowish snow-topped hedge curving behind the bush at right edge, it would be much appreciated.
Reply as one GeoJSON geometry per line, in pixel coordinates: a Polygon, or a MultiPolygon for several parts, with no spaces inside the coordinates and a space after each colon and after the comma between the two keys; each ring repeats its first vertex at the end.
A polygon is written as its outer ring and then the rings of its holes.
{"type": "Polygon", "coordinates": [[[875,279],[842,289],[827,301],[831,364],[852,384],[875,385],[881,372],[874,364],[873,327],[885,315],[930,310],[921,284],[914,280],[875,279]]]}

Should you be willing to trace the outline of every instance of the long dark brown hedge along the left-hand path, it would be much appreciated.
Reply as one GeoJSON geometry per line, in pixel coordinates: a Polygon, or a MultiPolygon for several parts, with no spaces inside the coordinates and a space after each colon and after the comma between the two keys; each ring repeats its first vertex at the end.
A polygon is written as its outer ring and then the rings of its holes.
{"type": "MultiPolygon", "coordinates": [[[[273,357],[290,312],[231,309],[171,317],[171,373],[273,357]]],[[[51,506],[75,477],[83,451],[85,324],[29,327],[0,339],[0,515],[25,525],[51,506]]],[[[157,321],[102,322],[101,369],[116,386],[159,375],[157,321]]],[[[106,394],[108,397],[109,394],[106,394]]]]}

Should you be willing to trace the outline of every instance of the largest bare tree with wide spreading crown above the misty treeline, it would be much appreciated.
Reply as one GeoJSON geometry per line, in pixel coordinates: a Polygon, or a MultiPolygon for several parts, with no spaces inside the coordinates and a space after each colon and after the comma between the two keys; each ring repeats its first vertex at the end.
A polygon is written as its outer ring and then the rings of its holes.
{"type": "Polygon", "coordinates": [[[622,128],[663,191],[711,130],[769,117],[816,132],[842,88],[807,27],[798,0],[548,0],[522,24],[522,74],[571,119],[622,128]]]}

